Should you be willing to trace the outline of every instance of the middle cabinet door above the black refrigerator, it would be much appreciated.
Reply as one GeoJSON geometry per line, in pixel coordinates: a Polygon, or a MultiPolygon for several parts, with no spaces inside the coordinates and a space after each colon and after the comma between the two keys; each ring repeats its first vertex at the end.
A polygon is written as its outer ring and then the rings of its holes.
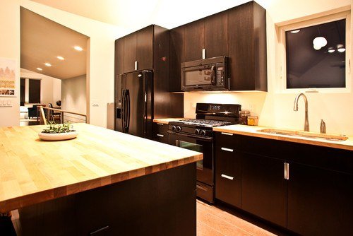
{"type": "Polygon", "coordinates": [[[137,33],[124,37],[124,73],[135,71],[137,33]]]}

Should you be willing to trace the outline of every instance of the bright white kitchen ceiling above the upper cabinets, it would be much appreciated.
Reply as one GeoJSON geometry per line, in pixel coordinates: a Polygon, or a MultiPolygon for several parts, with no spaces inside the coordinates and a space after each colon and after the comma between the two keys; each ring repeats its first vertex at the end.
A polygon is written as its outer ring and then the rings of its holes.
{"type": "MultiPolygon", "coordinates": [[[[132,32],[150,24],[175,28],[250,0],[32,0],[132,32]]],[[[270,1],[270,0],[259,0],[270,1]]]]}

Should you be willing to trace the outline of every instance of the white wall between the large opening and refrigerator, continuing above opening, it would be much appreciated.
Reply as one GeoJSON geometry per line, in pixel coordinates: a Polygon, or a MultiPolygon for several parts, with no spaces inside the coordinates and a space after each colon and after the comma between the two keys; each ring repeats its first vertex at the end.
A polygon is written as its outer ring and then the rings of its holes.
{"type": "Polygon", "coordinates": [[[87,111],[90,124],[106,127],[107,106],[109,102],[114,101],[114,40],[124,35],[126,31],[114,25],[77,16],[29,0],[20,0],[20,5],[90,37],[87,71],[90,107],[87,111]],[[92,103],[97,103],[98,106],[93,107],[92,103]]]}

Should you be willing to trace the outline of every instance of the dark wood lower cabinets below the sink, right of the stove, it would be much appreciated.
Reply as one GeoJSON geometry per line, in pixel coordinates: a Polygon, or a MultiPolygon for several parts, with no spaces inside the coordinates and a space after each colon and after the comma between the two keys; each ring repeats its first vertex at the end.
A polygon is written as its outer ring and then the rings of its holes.
{"type": "MultiPolygon", "coordinates": [[[[289,233],[353,235],[352,151],[218,132],[215,140],[216,147],[234,143],[241,160],[241,186],[216,181],[217,199],[289,233]],[[239,189],[240,207],[234,203],[239,189]]],[[[215,158],[216,180],[219,173],[234,173],[232,168],[239,166],[229,153],[216,151],[215,158]]]]}

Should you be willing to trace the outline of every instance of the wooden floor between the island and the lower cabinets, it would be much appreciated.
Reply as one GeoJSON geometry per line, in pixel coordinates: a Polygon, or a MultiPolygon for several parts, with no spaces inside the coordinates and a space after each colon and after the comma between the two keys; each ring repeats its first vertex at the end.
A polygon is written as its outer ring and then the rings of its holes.
{"type": "Polygon", "coordinates": [[[229,236],[229,235],[275,235],[272,232],[223,211],[216,206],[198,201],[197,236],[229,236]]]}

